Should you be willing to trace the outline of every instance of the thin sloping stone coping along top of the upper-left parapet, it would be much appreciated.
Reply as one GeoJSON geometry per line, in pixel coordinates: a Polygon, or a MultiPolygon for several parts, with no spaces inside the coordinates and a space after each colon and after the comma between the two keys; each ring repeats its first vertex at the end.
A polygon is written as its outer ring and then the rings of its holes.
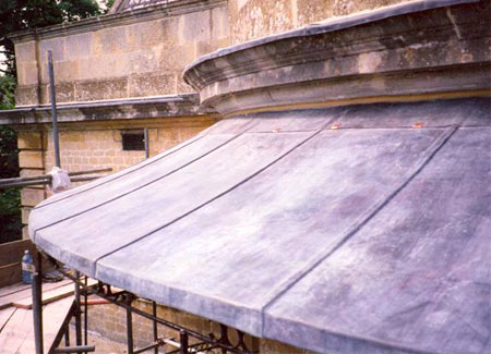
{"type": "Polygon", "coordinates": [[[56,38],[85,32],[98,30],[108,27],[129,25],[137,22],[177,16],[180,14],[200,10],[213,9],[226,3],[227,0],[180,0],[176,2],[169,2],[167,4],[147,7],[133,11],[124,11],[98,17],[83,19],[81,21],[67,24],[16,32],[9,34],[8,37],[14,44],[35,39],[56,38]]]}

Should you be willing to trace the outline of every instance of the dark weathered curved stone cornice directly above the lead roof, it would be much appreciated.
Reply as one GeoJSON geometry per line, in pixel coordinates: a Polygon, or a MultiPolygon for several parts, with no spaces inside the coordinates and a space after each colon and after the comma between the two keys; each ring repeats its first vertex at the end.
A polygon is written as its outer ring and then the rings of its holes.
{"type": "Polygon", "coordinates": [[[415,1],[232,46],[184,70],[224,114],[491,88],[489,1],[415,1]]]}

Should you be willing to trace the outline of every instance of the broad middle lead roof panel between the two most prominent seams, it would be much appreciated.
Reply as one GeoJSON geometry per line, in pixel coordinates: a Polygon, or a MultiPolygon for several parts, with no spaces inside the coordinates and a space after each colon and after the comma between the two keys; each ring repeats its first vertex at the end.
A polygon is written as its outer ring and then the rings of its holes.
{"type": "Polygon", "coordinates": [[[226,196],[100,259],[96,277],[118,277],[145,297],[151,284],[165,284],[152,291],[158,301],[261,335],[262,307],[376,203],[369,193],[391,192],[441,134],[323,131],[226,196]],[[349,175],[354,164],[357,173],[349,175]],[[231,317],[229,303],[248,310],[231,317]]]}

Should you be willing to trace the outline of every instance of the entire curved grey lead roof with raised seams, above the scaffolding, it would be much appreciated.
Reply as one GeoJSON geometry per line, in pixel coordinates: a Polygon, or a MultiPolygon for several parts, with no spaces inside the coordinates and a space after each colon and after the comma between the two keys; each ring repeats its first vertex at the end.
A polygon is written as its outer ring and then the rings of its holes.
{"type": "Polygon", "coordinates": [[[228,119],[48,199],[31,235],[92,277],[309,350],[487,353],[490,103],[228,119]]]}

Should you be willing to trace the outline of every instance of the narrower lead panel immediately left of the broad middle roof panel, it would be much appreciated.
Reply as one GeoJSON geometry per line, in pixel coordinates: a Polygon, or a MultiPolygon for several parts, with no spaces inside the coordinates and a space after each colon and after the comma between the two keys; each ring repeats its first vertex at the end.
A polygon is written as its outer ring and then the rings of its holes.
{"type": "MultiPolygon", "coordinates": [[[[307,137],[307,133],[285,136],[251,133],[239,136],[176,173],[158,179],[134,193],[124,194],[120,191],[119,198],[111,196],[111,202],[87,208],[83,213],[79,213],[81,206],[75,204],[73,217],[68,218],[67,212],[60,211],[63,213],[61,218],[57,218],[59,221],[48,228],[46,223],[40,223],[41,219],[36,213],[32,219],[36,225],[34,239],[55,258],[95,277],[95,263],[100,257],[164,228],[227,193],[307,137]],[[74,233],[73,230],[77,232],[74,233]],[[99,237],[104,237],[104,243],[100,243],[99,237]],[[67,245],[72,252],[59,247],[67,239],[74,243],[67,245]]],[[[105,191],[101,191],[99,199],[107,200],[105,191]]]]}

